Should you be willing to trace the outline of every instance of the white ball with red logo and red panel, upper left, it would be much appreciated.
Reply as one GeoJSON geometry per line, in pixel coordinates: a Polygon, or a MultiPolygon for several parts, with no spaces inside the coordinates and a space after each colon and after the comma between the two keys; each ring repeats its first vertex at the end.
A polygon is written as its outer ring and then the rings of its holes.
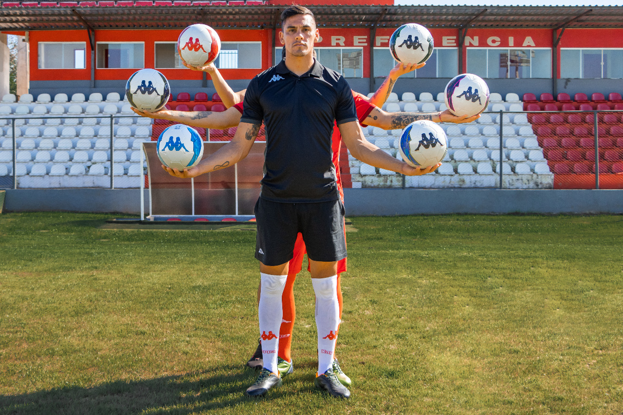
{"type": "Polygon", "coordinates": [[[189,65],[204,66],[211,64],[220,51],[221,38],[207,24],[193,24],[179,34],[178,53],[189,65]]]}

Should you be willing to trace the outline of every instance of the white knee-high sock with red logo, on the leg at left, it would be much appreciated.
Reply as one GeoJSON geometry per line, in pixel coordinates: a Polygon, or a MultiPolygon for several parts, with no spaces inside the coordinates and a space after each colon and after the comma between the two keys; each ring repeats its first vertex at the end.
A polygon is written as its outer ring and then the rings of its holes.
{"type": "Polygon", "coordinates": [[[281,296],[288,275],[260,273],[262,291],[257,307],[262,337],[262,359],[264,367],[273,373],[277,371],[277,351],[279,348],[279,328],[283,318],[281,296]]]}

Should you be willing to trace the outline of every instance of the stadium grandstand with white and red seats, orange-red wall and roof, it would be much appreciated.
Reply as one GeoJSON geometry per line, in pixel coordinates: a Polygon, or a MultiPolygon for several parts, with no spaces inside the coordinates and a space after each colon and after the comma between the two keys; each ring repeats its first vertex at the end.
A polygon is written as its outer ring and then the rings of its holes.
{"type": "MultiPolygon", "coordinates": [[[[306,4],[320,29],[318,59],[369,96],[395,64],[388,44],[397,27],[417,22],[434,37],[426,66],[401,77],[384,110],[442,111],[445,85],[466,72],[492,92],[477,122],[442,125],[449,151],[434,174],[404,177],[343,148],[345,188],[623,189],[621,7],[331,3],[306,4]]],[[[171,84],[168,108],[224,111],[209,77],[181,64],[179,32],[198,22],[214,27],[222,41],[216,65],[241,90],[280,59],[279,16],[288,4],[2,1],[4,48],[6,35],[18,36],[27,64],[17,94],[0,83],[0,188],[149,186],[141,145],[170,124],[135,116],[124,97],[128,77],[158,69],[171,84]]],[[[227,141],[234,131],[200,133],[227,141]]],[[[400,158],[401,130],[363,131],[400,158]]]]}

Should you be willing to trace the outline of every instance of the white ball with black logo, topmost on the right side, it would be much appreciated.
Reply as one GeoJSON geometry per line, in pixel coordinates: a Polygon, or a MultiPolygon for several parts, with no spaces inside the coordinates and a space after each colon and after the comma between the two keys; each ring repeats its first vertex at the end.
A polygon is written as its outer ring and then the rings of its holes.
{"type": "Polygon", "coordinates": [[[389,38],[392,56],[404,64],[426,62],[433,48],[432,35],[426,27],[417,23],[403,24],[389,38]]]}

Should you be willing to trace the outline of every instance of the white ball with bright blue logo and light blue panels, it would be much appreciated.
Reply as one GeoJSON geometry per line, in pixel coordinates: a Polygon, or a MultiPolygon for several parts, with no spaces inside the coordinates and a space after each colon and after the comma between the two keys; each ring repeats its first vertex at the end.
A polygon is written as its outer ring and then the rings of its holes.
{"type": "Polygon", "coordinates": [[[183,124],[165,128],[156,148],[162,164],[179,171],[196,166],[203,157],[201,136],[193,127],[183,124]]]}

